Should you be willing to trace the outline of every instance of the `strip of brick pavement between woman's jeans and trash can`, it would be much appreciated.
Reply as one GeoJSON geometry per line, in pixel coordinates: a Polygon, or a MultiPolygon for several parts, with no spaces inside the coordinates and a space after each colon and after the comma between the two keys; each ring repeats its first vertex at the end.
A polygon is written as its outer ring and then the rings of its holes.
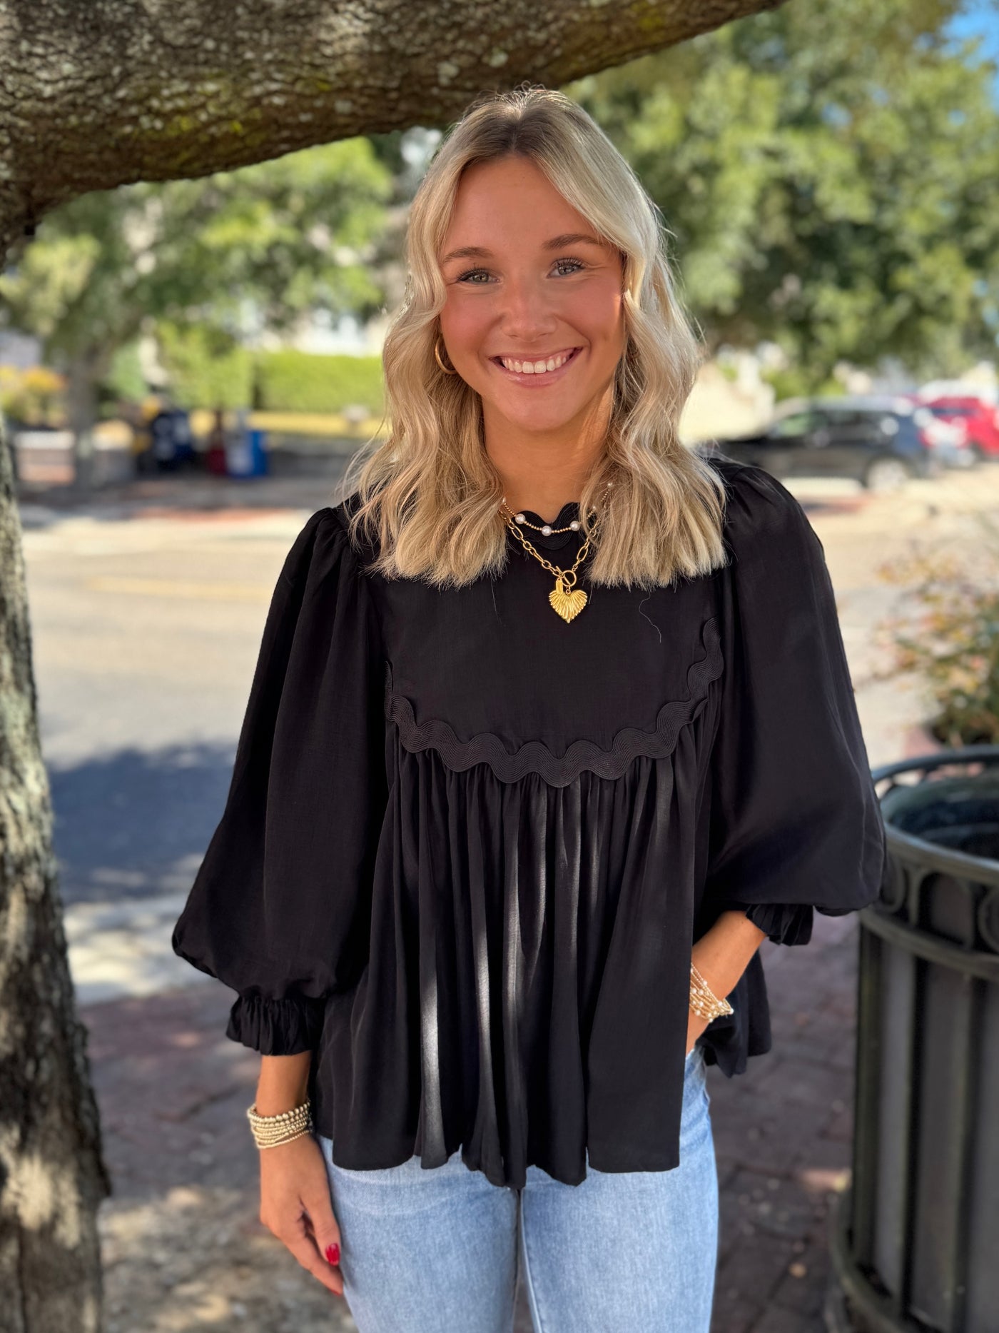
{"type": "Polygon", "coordinates": [[[713,1333],[819,1333],[852,1122],[856,918],[765,942],[773,1049],[709,1082],[721,1186],[713,1333]]]}

